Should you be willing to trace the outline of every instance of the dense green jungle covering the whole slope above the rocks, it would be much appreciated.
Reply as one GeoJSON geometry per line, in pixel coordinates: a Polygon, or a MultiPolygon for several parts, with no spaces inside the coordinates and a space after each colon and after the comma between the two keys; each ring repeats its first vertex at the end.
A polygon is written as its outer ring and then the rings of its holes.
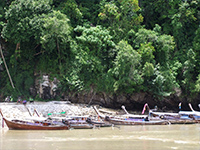
{"type": "Polygon", "coordinates": [[[29,95],[38,74],[61,91],[200,92],[200,0],[0,0],[3,95],[29,95]]]}

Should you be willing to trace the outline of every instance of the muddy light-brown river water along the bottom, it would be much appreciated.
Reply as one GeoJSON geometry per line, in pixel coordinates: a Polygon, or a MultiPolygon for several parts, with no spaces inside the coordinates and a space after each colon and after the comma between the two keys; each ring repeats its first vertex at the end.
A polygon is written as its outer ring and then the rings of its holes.
{"type": "Polygon", "coordinates": [[[0,128],[0,150],[199,150],[200,124],[66,131],[0,128]]]}

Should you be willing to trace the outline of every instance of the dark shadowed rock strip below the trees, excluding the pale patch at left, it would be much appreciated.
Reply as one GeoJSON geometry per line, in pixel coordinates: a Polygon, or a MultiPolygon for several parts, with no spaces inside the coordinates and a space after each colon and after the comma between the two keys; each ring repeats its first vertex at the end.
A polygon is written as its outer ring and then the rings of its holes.
{"type": "Polygon", "coordinates": [[[103,107],[118,108],[121,106],[126,106],[127,110],[141,111],[144,104],[148,103],[150,108],[157,106],[161,111],[168,110],[178,110],[178,104],[180,103],[179,97],[167,97],[161,100],[156,100],[153,96],[146,92],[134,93],[134,94],[124,94],[124,95],[107,95],[105,93],[98,93],[92,96],[90,94],[70,94],[67,100],[72,103],[82,103],[82,104],[98,104],[103,107]]]}

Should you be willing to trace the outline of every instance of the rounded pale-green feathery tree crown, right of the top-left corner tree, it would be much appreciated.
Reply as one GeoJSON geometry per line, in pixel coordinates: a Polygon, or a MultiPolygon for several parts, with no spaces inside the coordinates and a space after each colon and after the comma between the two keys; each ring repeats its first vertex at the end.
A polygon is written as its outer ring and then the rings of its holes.
{"type": "MultiPolygon", "coordinates": [[[[55,49],[59,53],[60,47],[66,45],[70,39],[71,29],[67,16],[59,11],[53,11],[44,16],[43,21],[40,42],[43,48],[47,50],[47,53],[52,53],[55,49]]],[[[65,49],[65,47],[62,48],[62,50],[65,49]]]]}

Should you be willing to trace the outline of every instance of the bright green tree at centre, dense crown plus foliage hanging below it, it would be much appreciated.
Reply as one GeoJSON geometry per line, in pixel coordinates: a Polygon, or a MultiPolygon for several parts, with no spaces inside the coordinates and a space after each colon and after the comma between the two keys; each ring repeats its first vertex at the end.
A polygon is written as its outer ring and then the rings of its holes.
{"type": "Polygon", "coordinates": [[[104,80],[103,74],[112,66],[115,43],[109,31],[101,26],[77,26],[74,31],[78,46],[73,51],[75,60],[72,66],[76,72],[73,79],[84,83],[84,89],[92,87],[98,90],[102,86],[99,83],[104,80]]]}

